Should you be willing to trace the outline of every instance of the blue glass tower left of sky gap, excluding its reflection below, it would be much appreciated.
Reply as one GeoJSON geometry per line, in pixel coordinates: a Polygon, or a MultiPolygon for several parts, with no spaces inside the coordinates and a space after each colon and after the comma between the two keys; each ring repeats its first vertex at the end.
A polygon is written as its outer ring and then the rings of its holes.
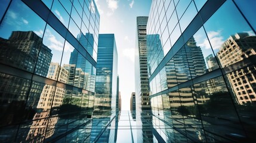
{"type": "Polygon", "coordinates": [[[118,82],[118,52],[115,35],[100,34],[95,82],[94,109],[116,111],[118,82]]]}

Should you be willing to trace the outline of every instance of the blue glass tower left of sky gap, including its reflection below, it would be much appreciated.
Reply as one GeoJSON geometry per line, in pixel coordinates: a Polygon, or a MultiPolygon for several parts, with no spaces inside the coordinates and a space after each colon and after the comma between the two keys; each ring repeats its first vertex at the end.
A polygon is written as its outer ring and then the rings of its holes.
{"type": "Polygon", "coordinates": [[[94,118],[92,119],[91,142],[115,142],[118,113],[118,51],[114,34],[98,36],[98,55],[95,82],[94,118]],[[106,126],[116,126],[106,129],[106,126]],[[102,130],[104,133],[101,135],[102,130]]]}

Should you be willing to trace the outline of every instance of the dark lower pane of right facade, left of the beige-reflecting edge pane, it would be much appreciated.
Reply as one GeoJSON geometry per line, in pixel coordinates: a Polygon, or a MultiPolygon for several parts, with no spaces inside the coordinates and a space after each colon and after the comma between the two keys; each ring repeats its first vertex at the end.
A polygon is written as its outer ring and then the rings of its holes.
{"type": "Polygon", "coordinates": [[[230,139],[232,133],[245,136],[222,76],[197,83],[194,87],[205,130],[230,139]]]}

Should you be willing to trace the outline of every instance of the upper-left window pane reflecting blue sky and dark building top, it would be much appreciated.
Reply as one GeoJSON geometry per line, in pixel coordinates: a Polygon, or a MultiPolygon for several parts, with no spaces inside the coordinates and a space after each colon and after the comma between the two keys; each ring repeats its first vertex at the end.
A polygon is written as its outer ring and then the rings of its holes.
{"type": "Polygon", "coordinates": [[[33,72],[45,21],[20,1],[13,1],[0,26],[2,64],[33,72]]]}

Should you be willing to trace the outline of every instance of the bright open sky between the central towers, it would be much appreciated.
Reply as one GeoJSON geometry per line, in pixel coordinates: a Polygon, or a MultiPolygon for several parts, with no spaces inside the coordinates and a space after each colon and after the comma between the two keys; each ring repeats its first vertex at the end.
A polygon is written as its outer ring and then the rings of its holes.
{"type": "Polygon", "coordinates": [[[118,49],[119,91],[122,110],[129,110],[134,88],[136,17],[149,15],[151,0],[96,0],[100,12],[100,33],[115,33],[118,49]]]}

